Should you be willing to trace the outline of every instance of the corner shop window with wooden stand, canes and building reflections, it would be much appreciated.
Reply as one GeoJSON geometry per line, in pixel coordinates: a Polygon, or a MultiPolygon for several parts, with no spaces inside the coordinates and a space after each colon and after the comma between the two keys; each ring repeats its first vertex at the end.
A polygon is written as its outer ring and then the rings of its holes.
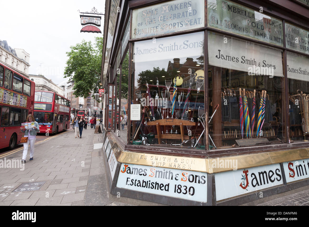
{"type": "Polygon", "coordinates": [[[130,144],[205,149],[204,32],[135,42],[132,56],[130,144]]]}

